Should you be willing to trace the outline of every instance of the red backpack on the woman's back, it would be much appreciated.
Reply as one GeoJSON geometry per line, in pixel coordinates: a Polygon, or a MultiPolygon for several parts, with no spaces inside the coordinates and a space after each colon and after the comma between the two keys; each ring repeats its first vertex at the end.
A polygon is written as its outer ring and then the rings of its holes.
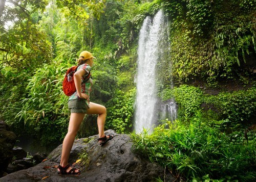
{"type": "MultiPolygon", "coordinates": [[[[62,90],[67,96],[71,96],[76,91],[75,81],[74,81],[74,73],[76,72],[78,66],[70,67],[65,75],[65,78],[62,82],[62,90]]],[[[91,71],[87,75],[86,79],[83,83],[87,82],[91,77],[91,71]]]]}

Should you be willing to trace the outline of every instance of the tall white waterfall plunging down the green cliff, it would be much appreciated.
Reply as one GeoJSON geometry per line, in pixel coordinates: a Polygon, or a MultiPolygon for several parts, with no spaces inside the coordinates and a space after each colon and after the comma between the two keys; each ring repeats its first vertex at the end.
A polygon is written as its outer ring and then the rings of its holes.
{"type": "MultiPolygon", "coordinates": [[[[143,127],[152,132],[158,119],[157,113],[161,109],[157,98],[156,67],[163,53],[161,46],[166,28],[164,13],[160,10],[153,19],[147,16],[140,30],[134,125],[136,133],[141,132],[143,127]]],[[[166,109],[163,110],[165,112],[166,109]]]]}

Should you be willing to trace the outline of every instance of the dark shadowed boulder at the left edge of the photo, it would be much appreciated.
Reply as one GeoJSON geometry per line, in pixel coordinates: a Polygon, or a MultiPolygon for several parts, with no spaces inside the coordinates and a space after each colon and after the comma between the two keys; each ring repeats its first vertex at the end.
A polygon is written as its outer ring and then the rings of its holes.
{"type": "Polygon", "coordinates": [[[0,121],[0,177],[13,157],[12,148],[16,138],[16,135],[9,131],[8,125],[4,121],[0,121]]]}

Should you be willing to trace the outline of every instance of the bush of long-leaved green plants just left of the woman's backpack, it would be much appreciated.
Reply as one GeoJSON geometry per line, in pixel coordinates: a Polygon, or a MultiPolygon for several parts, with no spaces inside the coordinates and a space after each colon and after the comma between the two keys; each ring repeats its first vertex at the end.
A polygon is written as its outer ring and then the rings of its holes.
{"type": "Polygon", "coordinates": [[[68,97],[62,92],[67,67],[44,65],[37,69],[26,87],[29,94],[23,98],[23,107],[15,117],[44,144],[62,140],[67,132],[68,97]]]}

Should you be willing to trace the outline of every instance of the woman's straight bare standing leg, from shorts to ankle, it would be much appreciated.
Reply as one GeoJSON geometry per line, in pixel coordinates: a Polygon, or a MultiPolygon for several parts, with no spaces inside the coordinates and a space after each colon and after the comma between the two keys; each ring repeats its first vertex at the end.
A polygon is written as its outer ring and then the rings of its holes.
{"type": "MultiPolygon", "coordinates": [[[[65,167],[69,164],[70,151],[75,141],[75,137],[80,127],[80,124],[83,121],[84,115],[85,115],[84,113],[71,113],[70,115],[68,133],[65,139],[63,140],[63,144],[62,144],[62,153],[61,153],[61,160],[60,160],[60,166],[62,167],[65,167]]],[[[67,172],[69,172],[69,170],[71,169],[72,168],[70,167],[67,170],[67,172]]],[[[76,170],[75,172],[77,171],[78,170],[76,170]]]]}

